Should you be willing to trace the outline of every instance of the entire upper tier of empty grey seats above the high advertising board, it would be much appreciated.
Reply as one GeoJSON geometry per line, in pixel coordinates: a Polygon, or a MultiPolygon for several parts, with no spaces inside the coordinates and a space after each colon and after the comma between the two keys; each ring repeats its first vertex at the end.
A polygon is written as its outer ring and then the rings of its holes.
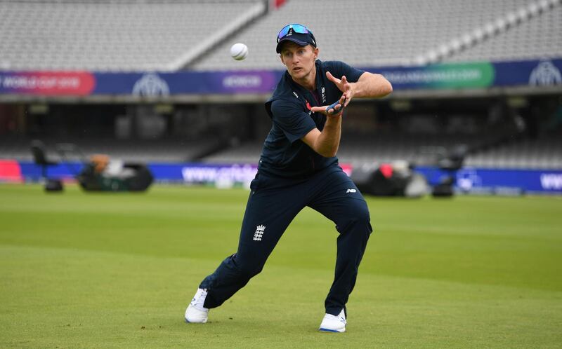
{"type": "Polygon", "coordinates": [[[322,60],[358,67],[560,56],[561,3],[358,0],[341,13],[293,0],[266,15],[260,0],[2,0],[0,69],[282,69],[275,34],[289,19],[318,33],[322,60]],[[248,60],[230,58],[237,42],[248,60]]]}

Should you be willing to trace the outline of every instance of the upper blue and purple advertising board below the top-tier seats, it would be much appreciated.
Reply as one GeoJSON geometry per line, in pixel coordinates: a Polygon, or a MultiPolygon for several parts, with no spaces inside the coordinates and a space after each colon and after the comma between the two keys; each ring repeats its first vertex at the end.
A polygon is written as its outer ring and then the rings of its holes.
{"type": "MultiPolygon", "coordinates": [[[[364,67],[383,74],[394,90],[459,90],[560,86],[562,59],[471,62],[423,67],[364,67]]],[[[0,95],[138,96],[268,94],[283,71],[179,71],[100,73],[0,71],[0,95]]]]}

